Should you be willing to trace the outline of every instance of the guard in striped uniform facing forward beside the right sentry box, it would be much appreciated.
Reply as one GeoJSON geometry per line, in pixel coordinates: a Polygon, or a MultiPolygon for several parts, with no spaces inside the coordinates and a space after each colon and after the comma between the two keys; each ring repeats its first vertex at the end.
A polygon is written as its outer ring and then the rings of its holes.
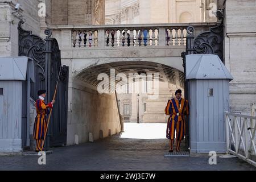
{"type": "Polygon", "coordinates": [[[170,150],[174,151],[174,138],[176,131],[176,152],[180,151],[180,142],[185,137],[185,115],[189,115],[188,101],[181,98],[181,90],[176,90],[175,98],[168,100],[166,115],[170,115],[167,122],[166,138],[170,139],[170,150]]]}

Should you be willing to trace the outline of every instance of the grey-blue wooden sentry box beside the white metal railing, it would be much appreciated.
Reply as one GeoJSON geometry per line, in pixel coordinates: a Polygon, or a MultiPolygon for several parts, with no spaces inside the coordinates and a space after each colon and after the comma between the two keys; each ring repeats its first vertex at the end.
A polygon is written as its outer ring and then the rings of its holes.
{"type": "Polygon", "coordinates": [[[187,55],[190,148],[193,153],[226,152],[225,117],[229,111],[228,69],[217,55],[187,55]]]}

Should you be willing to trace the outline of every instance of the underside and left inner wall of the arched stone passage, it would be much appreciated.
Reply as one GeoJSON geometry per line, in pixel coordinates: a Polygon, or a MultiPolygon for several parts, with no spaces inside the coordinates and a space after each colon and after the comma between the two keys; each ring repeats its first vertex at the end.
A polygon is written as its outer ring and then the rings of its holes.
{"type": "MultiPolygon", "coordinates": [[[[111,92],[114,89],[110,87],[109,93],[98,93],[97,86],[102,81],[97,79],[98,75],[103,73],[112,79],[110,69],[114,69],[115,75],[118,73],[127,76],[129,73],[139,73],[138,75],[158,73],[159,81],[173,85],[171,86],[173,91],[176,88],[184,90],[184,73],[170,65],[170,63],[166,65],[158,63],[158,61],[113,61],[90,66],[87,64],[86,68],[80,68],[80,71],[73,76],[72,81],[72,116],[68,124],[68,144],[73,144],[75,135],[79,135],[79,142],[88,142],[89,133],[93,133],[94,139],[99,139],[121,131],[117,98],[115,92],[111,92]]],[[[164,98],[162,101],[162,110],[166,105],[166,99],[164,98]]],[[[133,105],[136,100],[131,103],[133,105]]],[[[161,122],[164,123],[165,120],[161,122]]]]}

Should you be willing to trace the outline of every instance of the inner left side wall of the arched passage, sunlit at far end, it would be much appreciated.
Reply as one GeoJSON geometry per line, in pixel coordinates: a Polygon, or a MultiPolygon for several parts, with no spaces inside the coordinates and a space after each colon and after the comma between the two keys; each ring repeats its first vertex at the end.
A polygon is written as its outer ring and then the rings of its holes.
{"type": "Polygon", "coordinates": [[[68,145],[75,144],[75,135],[78,135],[79,143],[82,143],[89,141],[89,133],[93,134],[95,140],[121,131],[114,94],[99,94],[75,82],[72,85],[68,145]]]}

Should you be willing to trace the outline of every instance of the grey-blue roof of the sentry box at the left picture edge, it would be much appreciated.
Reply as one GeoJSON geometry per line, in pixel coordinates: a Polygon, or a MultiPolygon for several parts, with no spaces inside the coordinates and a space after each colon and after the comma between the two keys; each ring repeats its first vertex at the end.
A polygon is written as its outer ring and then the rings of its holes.
{"type": "Polygon", "coordinates": [[[34,82],[34,64],[29,57],[0,57],[0,80],[25,81],[27,71],[34,82]]]}

